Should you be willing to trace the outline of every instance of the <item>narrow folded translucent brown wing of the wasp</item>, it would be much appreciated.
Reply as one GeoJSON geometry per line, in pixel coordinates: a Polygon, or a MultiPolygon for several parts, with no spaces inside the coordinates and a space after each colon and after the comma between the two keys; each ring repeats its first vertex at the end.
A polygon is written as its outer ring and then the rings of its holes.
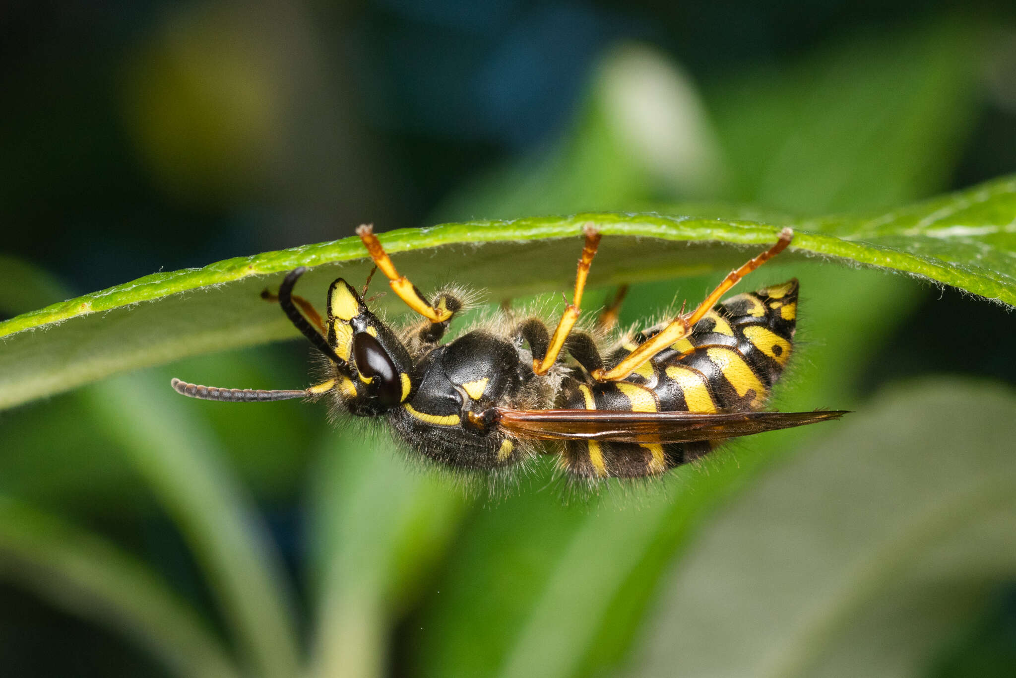
{"type": "Polygon", "coordinates": [[[497,425],[522,438],[668,443],[719,440],[839,419],[845,411],[627,412],[494,408],[497,425]]]}

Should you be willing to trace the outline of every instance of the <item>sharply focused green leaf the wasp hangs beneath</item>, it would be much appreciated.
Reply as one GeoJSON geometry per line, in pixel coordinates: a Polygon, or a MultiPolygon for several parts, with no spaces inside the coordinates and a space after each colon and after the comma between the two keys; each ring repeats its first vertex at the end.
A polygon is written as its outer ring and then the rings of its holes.
{"type": "MultiPolygon", "coordinates": [[[[1016,179],[1007,177],[881,214],[796,222],[798,235],[783,258],[820,255],[880,266],[1014,305],[1014,220],[1016,179]]],[[[592,286],[721,270],[773,242],[781,226],[595,213],[405,229],[382,241],[392,253],[412,252],[394,260],[423,289],[454,270],[456,281],[483,286],[497,300],[566,289],[578,234],[590,223],[606,236],[592,286]],[[717,242],[752,247],[722,248],[717,242]],[[435,251],[447,245],[459,247],[435,251]],[[511,265],[505,265],[508,260],[511,265]]],[[[0,407],[125,369],[292,336],[295,330],[278,309],[259,299],[261,289],[277,284],[282,271],[316,266],[300,291],[320,299],[336,275],[364,280],[363,258],[359,240],[347,238],[155,273],[12,318],[0,323],[0,407]],[[334,265],[351,261],[356,263],[334,265]]]]}

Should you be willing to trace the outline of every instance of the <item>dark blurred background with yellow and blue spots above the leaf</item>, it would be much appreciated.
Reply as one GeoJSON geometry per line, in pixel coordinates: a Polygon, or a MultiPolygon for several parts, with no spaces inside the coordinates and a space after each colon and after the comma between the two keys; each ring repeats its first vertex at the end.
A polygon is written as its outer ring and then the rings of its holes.
{"type": "MultiPolygon", "coordinates": [[[[967,17],[1012,13],[1005,2],[966,7],[967,17]]],[[[467,179],[564,134],[597,60],[621,42],[656,46],[709,90],[951,9],[8,2],[5,249],[83,293],[344,237],[364,222],[425,225],[467,179]]],[[[1012,167],[1004,104],[983,102],[949,185],[1012,167]]]]}

